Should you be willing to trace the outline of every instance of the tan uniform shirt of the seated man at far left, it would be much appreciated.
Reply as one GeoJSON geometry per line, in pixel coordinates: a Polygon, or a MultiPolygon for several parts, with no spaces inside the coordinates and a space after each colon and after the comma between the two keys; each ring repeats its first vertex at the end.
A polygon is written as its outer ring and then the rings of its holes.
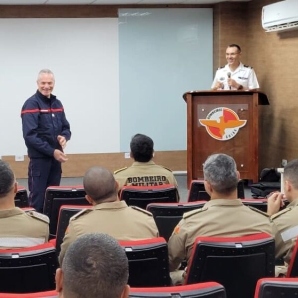
{"type": "Polygon", "coordinates": [[[48,242],[49,218],[18,207],[0,210],[0,248],[21,248],[48,242]]]}

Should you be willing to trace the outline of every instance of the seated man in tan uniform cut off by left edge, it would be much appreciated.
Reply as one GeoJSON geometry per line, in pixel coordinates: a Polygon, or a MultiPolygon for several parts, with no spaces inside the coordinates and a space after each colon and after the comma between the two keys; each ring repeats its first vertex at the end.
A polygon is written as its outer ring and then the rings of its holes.
{"type": "Polygon", "coordinates": [[[4,161],[0,161],[0,248],[21,248],[43,244],[49,239],[49,218],[15,207],[17,183],[4,161]]]}

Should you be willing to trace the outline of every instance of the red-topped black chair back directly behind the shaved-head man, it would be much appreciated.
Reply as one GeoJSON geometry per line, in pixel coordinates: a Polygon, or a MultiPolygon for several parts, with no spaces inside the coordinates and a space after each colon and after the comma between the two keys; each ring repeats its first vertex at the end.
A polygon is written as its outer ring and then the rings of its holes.
{"type": "Polygon", "coordinates": [[[164,238],[119,241],[129,264],[131,287],[166,287],[170,285],[168,248],[164,238]]]}

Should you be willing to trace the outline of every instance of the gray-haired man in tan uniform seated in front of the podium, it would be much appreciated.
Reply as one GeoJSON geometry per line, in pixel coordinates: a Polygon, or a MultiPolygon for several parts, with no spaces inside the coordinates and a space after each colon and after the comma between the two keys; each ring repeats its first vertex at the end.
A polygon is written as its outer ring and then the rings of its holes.
{"type": "MultiPolygon", "coordinates": [[[[189,260],[198,236],[237,237],[262,232],[272,234],[268,215],[244,206],[237,199],[240,174],[232,157],[226,154],[209,156],[203,172],[205,189],[211,200],[203,208],[185,213],[175,227],[168,241],[170,271],[178,269],[185,258],[189,260]]],[[[183,273],[171,273],[174,283],[182,282],[183,273]]]]}

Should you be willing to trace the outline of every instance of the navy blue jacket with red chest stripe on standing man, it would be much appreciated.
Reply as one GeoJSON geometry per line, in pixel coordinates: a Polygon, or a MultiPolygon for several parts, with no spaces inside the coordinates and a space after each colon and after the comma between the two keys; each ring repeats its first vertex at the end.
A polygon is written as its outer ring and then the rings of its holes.
{"type": "Polygon", "coordinates": [[[53,157],[55,149],[62,150],[57,137],[71,139],[70,124],[61,101],[55,95],[48,98],[37,90],[25,101],[21,117],[30,158],[53,157]]]}

